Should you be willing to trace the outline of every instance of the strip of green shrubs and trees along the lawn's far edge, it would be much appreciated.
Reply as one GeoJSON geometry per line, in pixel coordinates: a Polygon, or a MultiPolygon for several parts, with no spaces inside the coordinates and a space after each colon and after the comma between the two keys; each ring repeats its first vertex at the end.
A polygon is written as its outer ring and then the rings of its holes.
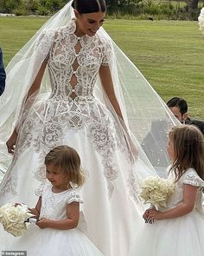
{"type": "MultiPolygon", "coordinates": [[[[204,4],[204,0],[200,1],[204,4]]],[[[67,2],[68,0],[0,0],[0,12],[53,15],[67,2]]],[[[200,12],[199,0],[106,0],[106,3],[108,15],[116,17],[196,20],[200,12]],[[183,1],[186,3],[184,7],[183,1]]]]}

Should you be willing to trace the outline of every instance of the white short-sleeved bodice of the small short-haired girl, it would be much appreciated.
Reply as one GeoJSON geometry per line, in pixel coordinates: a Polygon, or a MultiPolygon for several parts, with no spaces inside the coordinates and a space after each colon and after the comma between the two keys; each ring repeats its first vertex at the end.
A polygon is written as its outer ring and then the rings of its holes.
{"type": "Polygon", "coordinates": [[[41,218],[49,220],[64,220],[67,218],[67,204],[75,202],[82,203],[80,194],[73,188],[67,189],[61,193],[53,193],[52,186],[44,187],[41,195],[41,218]]]}

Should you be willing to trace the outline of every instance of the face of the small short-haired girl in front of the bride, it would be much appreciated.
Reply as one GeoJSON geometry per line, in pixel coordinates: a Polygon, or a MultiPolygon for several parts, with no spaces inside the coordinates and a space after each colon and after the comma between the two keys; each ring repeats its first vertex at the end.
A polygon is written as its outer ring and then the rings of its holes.
{"type": "Polygon", "coordinates": [[[46,166],[46,178],[52,183],[53,187],[66,188],[68,184],[67,174],[52,164],[46,166]]]}

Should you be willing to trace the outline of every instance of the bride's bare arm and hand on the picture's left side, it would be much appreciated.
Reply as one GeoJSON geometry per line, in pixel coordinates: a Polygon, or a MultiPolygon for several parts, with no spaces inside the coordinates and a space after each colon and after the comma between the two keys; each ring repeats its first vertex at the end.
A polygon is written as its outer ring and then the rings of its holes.
{"type": "MultiPolygon", "coordinates": [[[[28,101],[29,97],[31,95],[34,95],[35,92],[38,89],[40,89],[40,87],[41,87],[41,80],[42,80],[42,77],[44,75],[44,72],[45,72],[45,69],[46,69],[46,66],[47,66],[47,62],[48,62],[47,58],[44,60],[44,62],[42,62],[41,68],[40,68],[38,74],[35,77],[35,81],[31,85],[31,87],[29,89],[29,92],[28,92],[28,95],[26,96],[25,104],[28,101]]],[[[13,133],[12,133],[12,135],[10,135],[10,139],[6,142],[6,146],[8,148],[8,152],[10,154],[14,154],[14,146],[16,145],[16,139],[17,139],[17,131],[16,131],[16,128],[15,128],[13,133]]]]}

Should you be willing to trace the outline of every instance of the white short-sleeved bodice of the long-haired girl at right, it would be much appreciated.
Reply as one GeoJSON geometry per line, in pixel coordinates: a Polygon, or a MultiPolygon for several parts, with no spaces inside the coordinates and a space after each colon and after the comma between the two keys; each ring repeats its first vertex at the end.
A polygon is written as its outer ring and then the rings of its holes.
{"type": "MultiPolygon", "coordinates": [[[[171,181],[175,181],[174,171],[170,172],[168,179],[171,181]]],[[[174,208],[180,203],[182,203],[184,184],[192,185],[194,187],[199,187],[194,208],[200,211],[201,213],[204,213],[203,207],[202,207],[203,194],[201,191],[202,188],[204,187],[204,181],[201,180],[201,178],[193,168],[189,168],[185,174],[182,174],[182,177],[179,179],[179,181],[175,182],[175,192],[167,202],[166,208],[167,209],[174,208]]]]}

